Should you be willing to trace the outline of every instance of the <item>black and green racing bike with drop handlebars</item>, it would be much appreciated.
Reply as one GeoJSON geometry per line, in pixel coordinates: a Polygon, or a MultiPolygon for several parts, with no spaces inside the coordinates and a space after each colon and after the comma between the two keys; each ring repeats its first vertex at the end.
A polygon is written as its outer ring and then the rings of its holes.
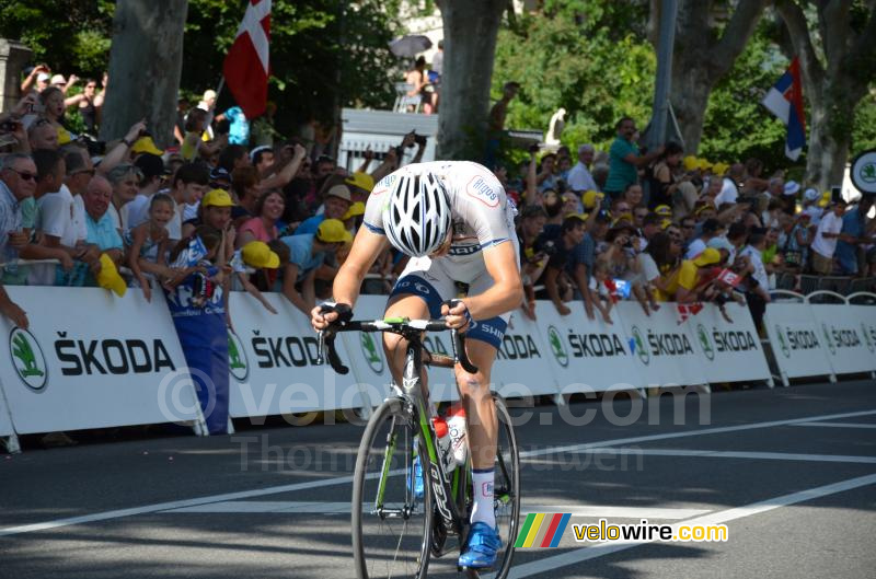
{"type": "MultiPolygon", "coordinates": [[[[424,578],[431,556],[464,547],[473,499],[472,453],[466,452],[464,465],[449,464],[435,432],[435,406],[429,403],[422,371],[424,366],[453,368],[457,363],[471,373],[477,369],[465,354],[463,335],[449,329],[445,321],[388,317],[339,321],[320,333],[318,357],[327,356],[341,374],[348,369],[334,348],[338,332],[389,332],[407,340],[402,385],[393,384],[369,418],[356,459],[351,506],[356,577],[424,578]],[[423,344],[427,332],[450,332],[452,357],[429,352],[423,344]],[[422,494],[416,489],[417,461],[422,494]]],[[[496,393],[493,399],[498,419],[494,508],[503,547],[491,572],[504,579],[519,526],[520,458],[505,401],[496,393]]],[[[474,569],[457,570],[480,577],[474,569]]]]}

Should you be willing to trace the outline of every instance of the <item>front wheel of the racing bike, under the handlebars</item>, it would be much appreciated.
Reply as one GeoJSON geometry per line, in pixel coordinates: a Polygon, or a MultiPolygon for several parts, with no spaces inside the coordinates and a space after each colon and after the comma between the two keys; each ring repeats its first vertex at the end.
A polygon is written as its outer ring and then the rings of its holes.
{"type": "Polygon", "coordinates": [[[431,541],[431,489],[414,493],[418,426],[401,398],[374,412],[353,483],[353,556],[359,579],[424,578],[431,541]]]}

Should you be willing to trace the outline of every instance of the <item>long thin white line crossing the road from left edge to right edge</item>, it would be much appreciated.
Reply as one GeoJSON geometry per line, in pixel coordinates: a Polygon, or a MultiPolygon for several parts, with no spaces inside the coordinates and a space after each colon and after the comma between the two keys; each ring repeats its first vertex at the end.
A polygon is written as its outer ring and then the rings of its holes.
{"type": "MultiPolygon", "coordinates": [[[[548,454],[562,453],[562,452],[580,452],[588,449],[616,447],[621,444],[631,444],[635,442],[648,442],[652,440],[667,440],[673,438],[689,438],[705,435],[719,435],[725,432],[738,432],[740,430],[754,430],[760,428],[773,428],[776,426],[788,426],[798,422],[807,421],[821,421],[834,420],[839,418],[852,418],[856,416],[871,416],[876,414],[876,410],[861,410],[854,413],[842,414],[826,414],[818,416],[809,416],[803,418],[789,418],[785,420],[770,420],[765,422],[752,422],[748,425],[724,426],[715,428],[703,428],[700,430],[683,430],[676,432],[665,432],[661,435],[648,435],[642,437],[619,438],[613,440],[603,440],[599,442],[588,442],[583,444],[569,444],[565,447],[549,447],[546,449],[525,451],[520,453],[521,458],[543,456],[548,454]]],[[[66,519],[56,519],[54,521],[45,521],[42,523],[24,524],[20,526],[8,526],[0,529],[0,536],[18,535],[22,533],[33,533],[36,531],[46,531],[48,529],[58,529],[60,526],[69,526],[73,524],[91,523],[96,521],[106,521],[111,519],[120,519],[123,517],[132,517],[136,514],[147,514],[151,512],[166,511],[170,509],[178,509],[183,507],[194,507],[195,505],[206,505],[208,502],[219,502],[222,500],[238,500],[255,497],[264,497],[267,495],[277,495],[280,493],[290,493],[293,490],[303,490],[309,488],[331,487],[336,485],[346,485],[353,482],[353,476],[338,476],[332,478],[323,478],[321,480],[310,480],[307,483],[295,483],[289,485],[279,485],[266,488],[256,488],[251,490],[241,490],[238,493],[224,493],[221,495],[210,495],[206,497],[197,497],[192,499],[173,500],[168,502],[158,502],[153,505],[145,505],[142,507],[132,507],[128,509],[117,509],[105,512],[96,512],[93,514],[83,514],[81,517],[69,517],[66,519]]]]}

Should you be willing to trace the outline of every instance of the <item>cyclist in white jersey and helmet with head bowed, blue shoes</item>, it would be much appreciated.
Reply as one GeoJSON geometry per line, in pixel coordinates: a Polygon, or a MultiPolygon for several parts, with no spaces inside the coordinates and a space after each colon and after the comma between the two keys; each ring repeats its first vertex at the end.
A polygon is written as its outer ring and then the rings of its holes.
{"type": "MultiPolygon", "coordinates": [[[[488,568],[502,540],[493,510],[493,464],[496,456],[496,408],[489,372],[510,312],[523,298],[514,204],[486,167],[468,161],[406,165],[383,177],[371,192],[349,256],[335,277],[336,303],[355,304],[366,273],[391,244],[411,256],[390,293],[385,315],[410,319],[446,316],[447,325],[465,332],[465,350],[477,367],[470,374],[457,364],[456,377],[465,409],[474,507],[471,531],[459,565],[488,568]],[[457,282],[469,294],[452,309],[457,282]]],[[[318,305],[311,323],[323,329],[337,313],[318,305]]],[[[402,383],[406,341],[384,334],[392,377],[402,383]]],[[[424,384],[426,375],[423,375],[424,384]]]]}

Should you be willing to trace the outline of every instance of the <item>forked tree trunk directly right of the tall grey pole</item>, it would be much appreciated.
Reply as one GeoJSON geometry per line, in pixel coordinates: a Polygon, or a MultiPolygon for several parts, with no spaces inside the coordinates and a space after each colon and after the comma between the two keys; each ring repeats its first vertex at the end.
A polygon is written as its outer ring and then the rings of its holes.
{"type": "MultiPolygon", "coordinates": [[[[676,45],[672,54],[672,86],[669,100],[678,118],[684,150],[696,153],[703,135],[708,95],[733,69],[766,4],[765,0],[739,0],[718,37],[712,0],[679,0],[676,45]]],[[[652,0],[648,35],[656,43],[659,0],[652,0]]],[[[656,46],[655,46],[656,48],[656,46]]]]}

